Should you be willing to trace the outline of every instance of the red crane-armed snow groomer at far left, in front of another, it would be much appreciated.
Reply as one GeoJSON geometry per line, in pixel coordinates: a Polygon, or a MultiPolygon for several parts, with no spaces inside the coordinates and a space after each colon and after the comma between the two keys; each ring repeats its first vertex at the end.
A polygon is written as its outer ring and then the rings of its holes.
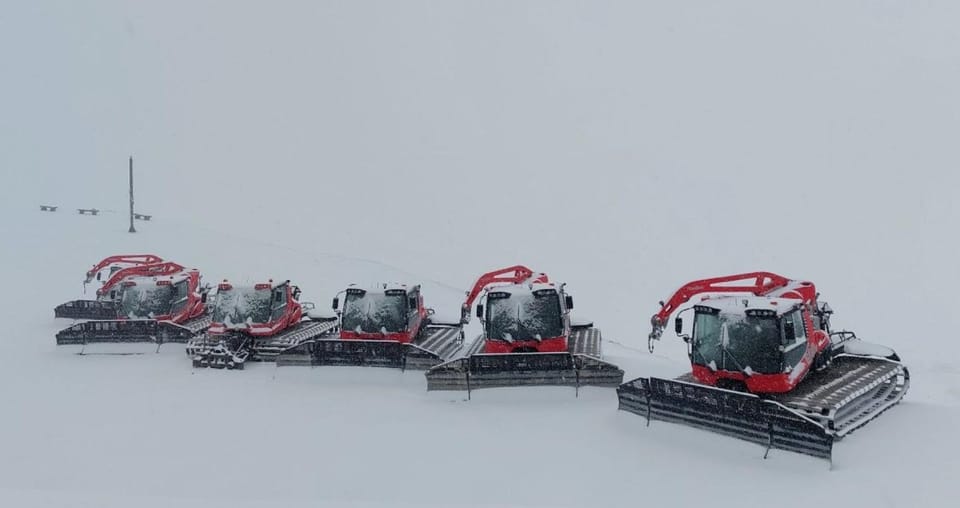
{"type": "Polygon", "coordinates": [[[210,324],[206,288],[201,287],[200,279],[196,269],[170,262],[116,271],[98,290],[106,298],[102,303],[109,304],[98,309],[110,319],[92,319],[65,328],[57,333],[57,344],[82,345],[81,354],[132,354],[146,350],[124,346],[117,351],[112,351],[113,347],[88,351],[87,345],[150,344],[148,349],[159,350],[164,343],[186,343],[210,324]],[[112,312],[105,312],[107,309],[112,312]]]}

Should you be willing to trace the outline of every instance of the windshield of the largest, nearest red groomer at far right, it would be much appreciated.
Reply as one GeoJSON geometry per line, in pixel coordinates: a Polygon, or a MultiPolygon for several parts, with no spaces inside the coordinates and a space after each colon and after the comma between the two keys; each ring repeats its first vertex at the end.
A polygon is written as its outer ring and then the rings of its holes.
{"type": "Polygon", "coordinates": [[[719,370],[779,373],[780,328],[774,316],[697,312],[693,362],[719,370]]]}

